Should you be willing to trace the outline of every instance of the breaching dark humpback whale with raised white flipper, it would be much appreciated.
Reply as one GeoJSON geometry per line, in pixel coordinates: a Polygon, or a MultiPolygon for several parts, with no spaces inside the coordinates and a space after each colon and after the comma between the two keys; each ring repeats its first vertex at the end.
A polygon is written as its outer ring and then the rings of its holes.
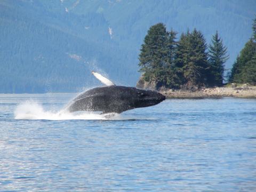
{"type": "Polygon", "coordinates": [[[122,113],[130,109],[154,106],[165,100],[165,96],[156,91],[118,86],[94,71],[92,74],[107,86],[95,87],[79,94],[68,106],[70,112],[122,113]]]}

